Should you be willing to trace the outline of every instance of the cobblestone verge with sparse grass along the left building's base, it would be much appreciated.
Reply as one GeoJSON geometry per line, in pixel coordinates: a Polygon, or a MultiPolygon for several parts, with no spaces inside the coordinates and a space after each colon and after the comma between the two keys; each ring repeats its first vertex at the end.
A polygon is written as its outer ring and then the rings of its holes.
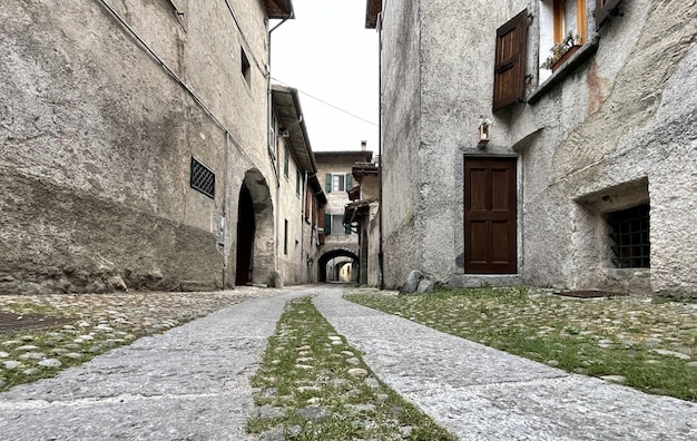
{"type": "Polygon", "coordinates": [[[245,298],[229,292],[0,296],[0,312],[65,318],[56,326],[0,332],[0,392],[245,298]]]}

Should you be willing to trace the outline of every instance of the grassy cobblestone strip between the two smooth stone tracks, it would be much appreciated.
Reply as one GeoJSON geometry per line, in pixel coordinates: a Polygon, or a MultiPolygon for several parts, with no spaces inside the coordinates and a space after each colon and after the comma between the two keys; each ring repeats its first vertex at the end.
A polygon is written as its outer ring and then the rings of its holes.
{"type": "Polygon", "coordinates": [[[252,378],[261,440],[454,440],[375,379],[310,297],[291,302],[252,378]]]}

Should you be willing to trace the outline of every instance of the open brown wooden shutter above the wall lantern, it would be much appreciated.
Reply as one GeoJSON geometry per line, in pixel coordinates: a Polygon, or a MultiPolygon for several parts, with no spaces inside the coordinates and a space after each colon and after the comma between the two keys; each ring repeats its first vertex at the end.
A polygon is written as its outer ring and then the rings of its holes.
{"type": "Polygon", "coordinates": [[[493,71],[493,110],[502,109],[526,96],[526,47],[528,10],[497,30],[493,71]]]}

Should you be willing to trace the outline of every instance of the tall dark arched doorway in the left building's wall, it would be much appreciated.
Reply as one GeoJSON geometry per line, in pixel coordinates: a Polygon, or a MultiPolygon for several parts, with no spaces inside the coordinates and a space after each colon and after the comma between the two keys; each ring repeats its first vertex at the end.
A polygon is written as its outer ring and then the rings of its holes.
{"type": "Polygon", "coordinates": [[[252,168],[239,187],[235,284],[266,284],[274,271],[274,206],[266,178],[252,168]],[[252,226],[251,226],[252,225],[252,226]]]}

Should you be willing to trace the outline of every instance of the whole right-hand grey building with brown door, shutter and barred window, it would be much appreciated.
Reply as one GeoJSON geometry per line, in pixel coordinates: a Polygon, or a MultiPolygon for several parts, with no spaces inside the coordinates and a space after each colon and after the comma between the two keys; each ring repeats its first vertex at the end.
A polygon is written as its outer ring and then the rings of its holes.
{"type": "Polygon", "coordinates": [[[369,0],[366,27],[387,286],[697,292],[695,1],[369,0]]]}

